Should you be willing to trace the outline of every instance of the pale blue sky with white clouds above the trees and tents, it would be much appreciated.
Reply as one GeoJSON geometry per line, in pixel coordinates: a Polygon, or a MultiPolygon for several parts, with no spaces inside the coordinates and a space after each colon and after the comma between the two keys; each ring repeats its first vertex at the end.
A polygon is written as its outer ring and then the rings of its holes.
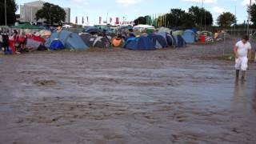
{"type": "MultiPolygon", "coordinates": [[[[133,21],[139,16],[166,14],[170,9],[179,8],[188,10],[190,6],[202,6],[202,0],[43,0],[44,2],[54,3],[62,7],[70,7],[71,22],[75,22],[78,16],[78,24],[82,24],[82,17],[89,17],[89,24],[97,24],[99,17],[104,21],[119,18],[120,21],[133,21]]],[[[203,0],[203,6],[214,16],[214,25],[216,19],[222,12],[236,14],[238,23],[243,23],[248,14],[246,12],[250,0],[203,0]]],[[[16,0],[18,6],[34,0],[16,0]]],[[[255,2],[255,0],[252,0],[255,2]]],[[[19,14],[19,10],[17,14],[19,14]]]]}

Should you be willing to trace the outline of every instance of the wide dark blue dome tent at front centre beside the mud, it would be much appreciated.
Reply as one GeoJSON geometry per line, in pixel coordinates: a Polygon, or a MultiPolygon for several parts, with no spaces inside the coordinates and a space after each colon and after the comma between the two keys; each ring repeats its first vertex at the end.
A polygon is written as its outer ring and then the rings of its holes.
{"type": "Polygon", "coordinates": [[[156,50],[154,43],[145,36],[138,38],[129,38],[123,48],[128,50],[156,50]]]}

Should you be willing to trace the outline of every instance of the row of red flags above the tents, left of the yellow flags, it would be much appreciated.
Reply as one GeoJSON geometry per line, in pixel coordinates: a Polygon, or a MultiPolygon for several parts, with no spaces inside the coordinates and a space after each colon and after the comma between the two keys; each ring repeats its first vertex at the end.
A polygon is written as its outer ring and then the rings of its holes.
{"type": "MultiPolygon", "coordinates": [[[[113,22],[113,18],[110,18],[109,22],[112,23],[113,22]]],[[[78,17],[75,17],[75,23],[78,24],[78,17]]],[[[84,23],[89,23],[89,17],[88,16],[86,16],[86,22],[84,21],[84,17],[82,17],[82,24],[84,24],[84,23]]],[[[102,17],[98,18],[98,23],[102,24],[102,17]]],[[[115,22],[114,22],[114,24],[116,24],[116,25],[130,25],[132,23],[133,22],[131,22],[131,21],[129,21],[129,22],[126,22],[126,21],[120,22],[118,17],[115,18],[115,22]]]]}

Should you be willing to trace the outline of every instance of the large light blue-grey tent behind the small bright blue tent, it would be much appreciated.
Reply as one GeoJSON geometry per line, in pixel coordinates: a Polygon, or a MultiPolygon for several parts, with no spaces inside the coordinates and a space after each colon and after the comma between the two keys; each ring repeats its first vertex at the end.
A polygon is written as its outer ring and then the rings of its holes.
{"type": "Polygon", "coordinates": [[[61,30],[60,32],[51,34],[50,38],[46,40],[46,47],[50,48],[50,44],[56,39],[60,40],[63,46],[68,49],[82,50],[89,48],[78,34],[67,30],[61,30]]]}

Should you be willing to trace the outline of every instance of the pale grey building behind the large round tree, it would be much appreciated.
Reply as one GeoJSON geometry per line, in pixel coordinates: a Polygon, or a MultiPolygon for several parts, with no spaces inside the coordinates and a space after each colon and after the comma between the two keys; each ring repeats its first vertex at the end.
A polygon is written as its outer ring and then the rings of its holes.
{"type": "MultiPolygon", "coordinates": [[[[38,10],[42,9],[45,2],[39,0],[35,2],[24,3],[20,6],[20,22],[42,22],[42,20],[36,20],[35,14],[38,10]]],[[[63,8],[63,7],[62,7],[63,8]]],[[[70,23],[70,8],[63,8],[66,12],[66,23],[70,23]]]]}

